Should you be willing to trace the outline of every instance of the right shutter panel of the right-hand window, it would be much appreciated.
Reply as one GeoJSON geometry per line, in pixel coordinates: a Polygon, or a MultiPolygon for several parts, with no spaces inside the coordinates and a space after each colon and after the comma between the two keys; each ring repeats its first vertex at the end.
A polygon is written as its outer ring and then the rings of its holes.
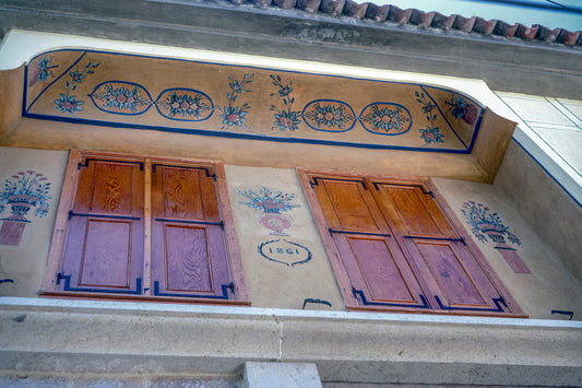
{"type": "Polygon", "coordinates": [[[383,183],[373,183],[373,187],[388,222],[419,260],[435,308],[504,311],[499,292],[424,187],[383,183]]]}

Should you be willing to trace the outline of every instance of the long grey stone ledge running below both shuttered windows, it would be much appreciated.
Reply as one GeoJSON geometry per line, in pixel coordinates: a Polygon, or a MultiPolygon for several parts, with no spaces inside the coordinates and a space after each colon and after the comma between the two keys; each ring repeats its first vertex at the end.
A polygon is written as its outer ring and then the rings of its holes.
{"type": "Polygon", "coordinates": [[[579,321],[4,297],[0,325],[0,371],[233,375],[280,361],[314,363],[323,381],[582,384],[579,321]]]}

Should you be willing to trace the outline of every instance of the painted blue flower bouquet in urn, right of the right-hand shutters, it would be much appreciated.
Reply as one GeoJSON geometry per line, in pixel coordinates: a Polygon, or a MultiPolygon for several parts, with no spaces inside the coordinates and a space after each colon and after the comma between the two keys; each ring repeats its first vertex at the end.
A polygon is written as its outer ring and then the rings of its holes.
{"type": "Polygon", "coordinates": [[[475,201],[466,201],[461,211],[479,242],[485,243],[489,237],[494,243],[504,243],[503,235],[506,235],[511,243],[521,245],[518,236],[509,232],[509,226],[503,225],[497,213],[490,213],[489,208],[475,201]]]}

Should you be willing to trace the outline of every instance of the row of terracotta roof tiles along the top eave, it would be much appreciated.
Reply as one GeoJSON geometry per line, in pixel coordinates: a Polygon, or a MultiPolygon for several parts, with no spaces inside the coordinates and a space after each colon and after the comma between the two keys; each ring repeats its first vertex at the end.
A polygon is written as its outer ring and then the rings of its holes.
{"type": "Polygon", "coordinates": [[[411,24],[421,28],[458,30],[465,33],[504,36],[523,40],[558,43],[567,46],[582,46],[582,32],[563,28],[550,30],[534,24],[530,27],[513,25],[498,20],[443,15],[439,12],[424,12],[417,9],[402,10],[396,5],[377,5],[369,2],[357,3],[353,0],[230,0],[236,4],[254,3],[259,7],[276,5],[285,10],[298,9],[307,12],[322,12],[332,16],[341,14],[354,19],[369,19],[378,23],[411,24]]]}

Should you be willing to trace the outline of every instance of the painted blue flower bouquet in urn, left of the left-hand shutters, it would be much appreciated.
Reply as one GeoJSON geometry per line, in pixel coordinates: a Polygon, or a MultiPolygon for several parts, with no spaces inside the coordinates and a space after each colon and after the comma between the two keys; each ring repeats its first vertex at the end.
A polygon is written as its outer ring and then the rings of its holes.
{"type": "Polygon", "coordinates": [[[5,204],[12,207],[12,215],[4,220],[29,222],[25,215],[33,207],[36,207],[33,215],[45,217],[49,210],[48,200],[51,198],[48,195],[48,179],[34,171],[20,172],[12,178],[15,180],[4,180],[4,189],[0,193],[0,212],[4,211],[5,204]]]}

